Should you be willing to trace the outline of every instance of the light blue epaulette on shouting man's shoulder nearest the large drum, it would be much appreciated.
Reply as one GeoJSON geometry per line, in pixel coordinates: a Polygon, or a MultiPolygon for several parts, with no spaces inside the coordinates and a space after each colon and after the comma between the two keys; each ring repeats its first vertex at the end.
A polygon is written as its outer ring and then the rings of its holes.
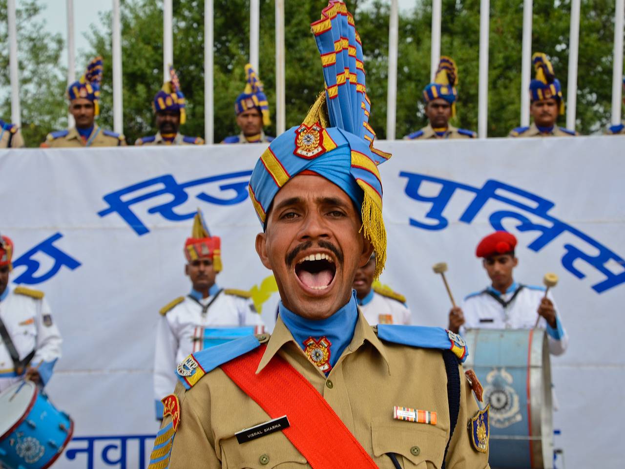
{"type": "Polygon", "coordinates": [[[399,324],[378,324],[373,327],[377,337],[392,343],[411,347],[451,350],[463,363],[469,356],[464,339],[442,327],[403,326],[399,324]]]}

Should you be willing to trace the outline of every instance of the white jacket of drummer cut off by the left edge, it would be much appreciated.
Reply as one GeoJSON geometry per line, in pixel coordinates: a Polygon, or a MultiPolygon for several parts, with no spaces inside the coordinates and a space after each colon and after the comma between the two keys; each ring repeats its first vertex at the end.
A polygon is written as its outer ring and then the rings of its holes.
{"type": "MultiPolygon", "coordinates": [[[[8,285],[0,295],[0,318],[15,346],[19,359],[35,351],[30,366],[36,367],[45,386],[54,364],[61,357],[61,333],[43,293],[21,286],[8,285]]],[[[23,375],[23,372],[22,372],[23,375]]],[[[0,339],[0,392],[19,380],[11,354],[0,339]]]]}

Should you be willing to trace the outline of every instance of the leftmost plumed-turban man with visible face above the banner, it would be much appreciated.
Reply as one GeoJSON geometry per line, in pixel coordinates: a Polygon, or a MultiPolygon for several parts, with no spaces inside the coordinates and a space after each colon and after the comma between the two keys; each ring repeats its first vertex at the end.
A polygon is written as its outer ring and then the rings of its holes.
{"type": "Polygon", "coordinates": [[[76,126],[47,134],[42,148],[81,148],[91,146],[125,146],[123,135],[100,128],[95,122],[100,113],[100,82],[102,81],[102,58],[96,57],[87,66],[87,71],[69,85],[69,112],[74,116],[76,126]]]}

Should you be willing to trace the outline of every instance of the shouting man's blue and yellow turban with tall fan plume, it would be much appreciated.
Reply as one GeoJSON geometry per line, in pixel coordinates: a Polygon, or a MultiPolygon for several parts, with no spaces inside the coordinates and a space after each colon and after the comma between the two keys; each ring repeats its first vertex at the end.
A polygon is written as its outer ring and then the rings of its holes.
{"type": "Polygon", "coordinates": [[[362,43],[344,3],[331,0],[311,24],[326,83],[300,126],[276,138],[256,163],[249,195],[266,228],[267,211],[289,179],[312,171],[339,186],[361,209],[362,233],[376,252],[375,276],[386,261],[382,183],[377,165],[391,157],[373,148],[362,43]]]}

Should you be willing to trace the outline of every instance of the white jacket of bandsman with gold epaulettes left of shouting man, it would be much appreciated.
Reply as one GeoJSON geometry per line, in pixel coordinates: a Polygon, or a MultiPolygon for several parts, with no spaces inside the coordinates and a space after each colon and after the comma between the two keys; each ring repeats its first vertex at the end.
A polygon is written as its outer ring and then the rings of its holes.
{"type": "Polygon", "coordinates": [[[261,315],[245,293],[222,290],[213,285],[208,298],[202,298],[201,293],[192,290],[191,294],[172,301],[161,310],[154,353],[156,418],[163,418],[161,399],[174,392],[178,382],[178,363],[182,363],[191,353],[246,333],[228,328],[253,326],[250,334],[264,331],[261,315]]]}

